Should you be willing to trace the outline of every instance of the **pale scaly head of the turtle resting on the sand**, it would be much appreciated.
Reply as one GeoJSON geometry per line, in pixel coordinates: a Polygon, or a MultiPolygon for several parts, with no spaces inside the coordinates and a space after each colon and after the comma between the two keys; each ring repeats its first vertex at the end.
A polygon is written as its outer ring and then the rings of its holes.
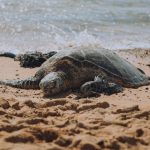
{"type": "Polygon", "coordinates": [[[66,75],[64,72],[51,72],[40,82],[44,96],[51,96],[64,91],[66,87],[66,75]]]}

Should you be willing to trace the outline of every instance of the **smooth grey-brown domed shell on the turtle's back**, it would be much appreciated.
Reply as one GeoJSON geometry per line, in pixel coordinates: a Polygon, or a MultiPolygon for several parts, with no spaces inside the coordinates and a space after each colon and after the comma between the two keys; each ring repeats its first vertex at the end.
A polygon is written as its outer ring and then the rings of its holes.
{"type": "Polygon", "coordinates": [[[109,79],[112,78],[112,81],[114,79],[115,82],[121,80],[121,84],[125,87],[139,87],[149,83],[144,72],[118,56],[114,51],[104,48],[86,47],[63,50],[49,58],[41,67],[52,68],[57,61],[61,61],[65,57],[82,63],[83,67],[96,66],[97,69],[103,70],[109,79]]]}

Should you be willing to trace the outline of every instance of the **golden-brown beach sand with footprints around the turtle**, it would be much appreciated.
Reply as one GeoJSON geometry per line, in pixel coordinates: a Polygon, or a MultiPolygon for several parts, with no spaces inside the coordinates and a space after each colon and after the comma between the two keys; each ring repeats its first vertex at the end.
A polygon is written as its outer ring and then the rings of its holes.
{"type": "MultiPolygon", "coordinates": [[[[150,50],[118,50],[150,75],[150,50]]],[[[38,69],[0,58],[0,80],[38,69]]],[[[0,86],[0,150],[150,149],[150,86],[77,100],[68,92],[43,98],[40,90],[0,86]]]]}

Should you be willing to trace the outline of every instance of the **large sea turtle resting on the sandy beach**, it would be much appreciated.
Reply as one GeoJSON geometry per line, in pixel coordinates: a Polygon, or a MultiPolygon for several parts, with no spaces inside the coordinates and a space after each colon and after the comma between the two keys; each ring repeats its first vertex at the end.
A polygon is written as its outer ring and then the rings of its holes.
{"type": "Polygon", "coordinates": [[[149,80],[142,70],[114,51],[88,47],[62,50],[44,62],[33,77],[0,81],[0,84],[24,89],[40,88],[45,96],[81,87],[82,93],[90,95],[89,92],[95,88],[103,89],[105,85],[105,89],[118,86],[137,88],[150,84],[149,80]]]}

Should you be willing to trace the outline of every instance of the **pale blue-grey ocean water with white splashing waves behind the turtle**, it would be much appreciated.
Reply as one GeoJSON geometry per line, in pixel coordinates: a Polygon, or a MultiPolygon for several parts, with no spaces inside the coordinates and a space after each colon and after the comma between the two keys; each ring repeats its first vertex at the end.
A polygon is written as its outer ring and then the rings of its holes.
{"type": "Polygon", "coordinates": [[[150,0],[0,0],[0,51],[150,48],[150,0]]]}

